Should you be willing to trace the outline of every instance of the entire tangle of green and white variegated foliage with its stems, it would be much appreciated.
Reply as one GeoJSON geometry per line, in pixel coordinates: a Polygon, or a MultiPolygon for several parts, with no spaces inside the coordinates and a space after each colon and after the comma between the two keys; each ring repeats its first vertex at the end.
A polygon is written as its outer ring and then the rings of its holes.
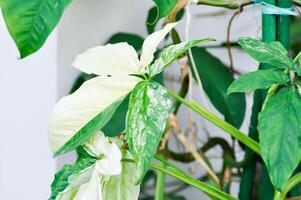
{"type": "MultiPolygon", "coordinates": [[[[5,22],[21,58],[36,52],[43,45],[70,2],[71,0],[0,0],[5,22]]],[[[253,187],[250,187],[252,185],[250,182],[254,178],[250,176],[254,175],[252,170],[255,170],[256,163],[263,168],[260,171],[262,180],[268,183],[258,186],[258,193],[261,190],[270,193],[266,186],[273,186],[274,198],[285,199],[288,192],[301,182],[301,174],[294,175],[299,171],[301,155],[300,54],[293,59],[280,42],[265,43],[257,38],[240,38],[238,44],[242,49],[256,61],[267,65],[261,65],[260,70],[244,74],[234,81],[235,70],[232,69],[231,73],[223,62],[205,48],[197,47],[203,42],[213,41],[212,39],[181,42],[179,34],[174,29],[176,23],[167,24],[161,31],[154,32],[159,19],[166,17],[166,22],[179,20],[183,16],[183,8],[190,6],[192,1],[153,0],[153,2],[155,6],[150,9],[146,23],[150,35],[144,41],[140,36],[120,33],[110,38],[110,44],[94,47],[76,57],[73,66],[85,73],[83,79],[92,78],[82,85],[76,83],[77,86],[81,86],[78,89],[75,87],[74,93],[57,103],[49,125],[49,139],[55,156],[76,149],[78,159],[72,165],[65,165],[55,175],[50,199],[135,200],[140,198],[139,192],[144,193],[143,181],[152,175],[147,174],[152,172],[148,171],[149,168],[157,171],[156,191],[155,195],[148,195],[145,199],[152,199],[153,196],[156,200],[183,199],[165,190],[164,187],[167,185],[165,174],[184,183],[180,185],[179,191],[189,185],[202,190],[212,199],[235,199],[230,195],[229,189],[231,175],[234,176],[233,168],[238,169],[238,172],[243,168],[243,173],[246,172],[245,177],[244,174],[238,173],[238,176],[242,177],[241,191],[247,188],[247,194],[239,196],[242,199],[251,199],[253,187]],[[155,54],[160,41],[168,33],[174,44],[155,54]],[[132,46],[121,41],[128,41],[132,46]],[[136,50],[140,52],[141,49],[139,56],[136,50]],[[160,81],[157,82],[161,72],[176,59],[180,59],[184,65],[179,94],[165,88],[160,81]],[[187,68],[188,71],[191,69],[193,78],[201,86],[199,89],[205,91],[213,106],[224,116],[224,120],[195,101],[184,99],[188,82],[192,81],[191,76],[185,74],[187,68]],[[238,130],[244,120],[246,107],[244,95],[241,93],[253,91],[258,93],[255,93],[254,98],[250,135],[252,136],[252,131],[256,133],[258,130],[259,143],[238,130]],[[230,134],[243,148],[248,147],[245,148],[245,159],[237,162],[234,148],[220,137],[210,138],[198,151],[187,144],[185,134],[175,120],[181,104],[230,134]],[[126,117],[118,116],[123,115],[123,112],[126,112],[126,117]],[[125,127],[119,127],[120,121],[125,121],[125,127]],[[113,130],[115,126],[118,127],[118,131],[113,130]],[[163,151],[158,148],[160,142],[167,143],[165,136],[170,129],[179,132],[179,138],[186,144],[188,153],[173,152],[168,149],[168,145],[165,145],[163,151]],[[215,145],[220,145],[223,149],[223,169],[220,174],[212,170],[210,162],[204,155],[215,145]],[[255,162],[256,156],[253,152],[262,158],[264,164],[261,159],[255,162]],[[157,160],[158,165],[152,162],[153,158],[157,160]],[[169,158],[180,162],[197,160],[206,170],[207,182],[188,176],[174,164],[169,163],[167,161],[169,158]],[[251,166],[252,164],[255,166],[251,166]],[[265,166],[268,177],[265,176],[265,166]]],[[[253,3],[267,5],[274,2],[273,8],[275,6],[287,8],[292,3],[301,5],[299,0],[193,2],[199,5],[240,8],[239,13],[243,11],[243,7],[253,3]]],[[[273,27],[276,16],[264,15],[264,17],[264,35],[268,35],[266,32],[270,34],[276,31],[277,34],[278,32],[282,34],[285,29],[289,29],[289,23],[286,23],[288,19],[283,16],[277,16],[276,28],[273,27]]],[[[298,26],[295,27],[300,29],[298,26]]],[[[296,30],[293,32],[295,38],[298,38],[299,32],[296,30]]],[[[277,40],[280,40],[281,34],[276,37],[277,40]]],[[[230,35],[228,36],[230,38],[230,35]]],[[[268,40],[275,40],[274,36],[271,37],[268,40]]],[[[282,43],[288,43],[288,40],[282,43]]],[[[230,41],[227,41],[227,46],[231,58],[230,41]]],[[[201,178],[203,179],[204,177],[201,178]]],[[[300,191],[297,193],[300,194],[300,191]]],[[[265,198],[262,193],[259,195],[265,198]]]]}

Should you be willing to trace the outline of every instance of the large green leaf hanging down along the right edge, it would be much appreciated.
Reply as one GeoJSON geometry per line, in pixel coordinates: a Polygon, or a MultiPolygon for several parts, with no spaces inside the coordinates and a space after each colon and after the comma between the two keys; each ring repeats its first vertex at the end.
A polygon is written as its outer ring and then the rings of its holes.
{"type": "Polygon", "coordinates": [[[259,138],[271,181],[281,190],[300,162],[301,97],[293,88],[282,88],[259,114],[259,138]]]}

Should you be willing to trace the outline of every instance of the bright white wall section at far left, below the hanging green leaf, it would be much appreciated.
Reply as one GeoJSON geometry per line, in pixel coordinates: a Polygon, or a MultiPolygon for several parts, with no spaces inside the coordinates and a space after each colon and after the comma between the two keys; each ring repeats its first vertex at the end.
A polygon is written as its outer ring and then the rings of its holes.
{"type": "Polygon", "coordinates": [[[56,101],[57,33],[19,60],[0,16],[0,199],[47,199],[55,171],[47,124],[56,101]]]}

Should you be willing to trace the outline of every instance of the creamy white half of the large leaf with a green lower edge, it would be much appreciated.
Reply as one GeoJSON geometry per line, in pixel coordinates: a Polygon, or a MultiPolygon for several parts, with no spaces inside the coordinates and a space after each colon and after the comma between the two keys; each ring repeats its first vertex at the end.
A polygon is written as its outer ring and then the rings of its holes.
{"type": "Polygon", "coordinates": [[[96,77],[76,92],[62,98],[55,106],[49,124],[49,141],[53,152],[59,150],[94,117],[138,83],[136,77],[96,77]]]}

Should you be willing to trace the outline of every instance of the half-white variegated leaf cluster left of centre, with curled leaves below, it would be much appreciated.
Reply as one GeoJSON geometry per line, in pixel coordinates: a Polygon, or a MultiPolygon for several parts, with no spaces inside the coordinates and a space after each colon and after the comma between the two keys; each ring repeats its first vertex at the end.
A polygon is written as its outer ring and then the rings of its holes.
{"type": "Polygon", "coordinates": [[[97,46],[76,57],[75,68],[97,77],[57,103],[50,120],[49,140],[56,156],[79,146],[87,156],[56,175],[51,199],[137,199],[137,185],[156,154],[172,111],[168,92],[152,79],[187,49],[212,41],[171,45],[152,62],[157,46],[175,25],[167,24],[149,35],[140,59],[125,42],[97,46]],[[99,130],[127,95],[126,136],[107,138],[99,130]],[[122,159],[129,158],[134,164],[122,164],[122,159]]]}

